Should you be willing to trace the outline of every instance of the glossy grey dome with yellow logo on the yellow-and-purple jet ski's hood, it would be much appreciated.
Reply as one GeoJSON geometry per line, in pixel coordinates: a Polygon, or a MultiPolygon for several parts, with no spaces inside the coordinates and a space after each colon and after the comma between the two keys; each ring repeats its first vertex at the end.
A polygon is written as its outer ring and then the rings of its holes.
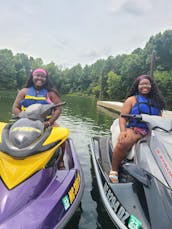
{"type": "Polygon", "coordinates": [[[43,131],[44,127],[40,121],[27,118],[19,119],[9,130],[9,140],[12,145],[22,149],[37,141],[43,131]]]}

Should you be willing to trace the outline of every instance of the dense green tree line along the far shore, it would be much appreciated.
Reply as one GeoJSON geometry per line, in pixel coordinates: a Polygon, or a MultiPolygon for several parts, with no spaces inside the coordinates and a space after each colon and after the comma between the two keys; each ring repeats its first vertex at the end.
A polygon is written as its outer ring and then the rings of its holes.
{"type": "Polygon", "coordinates": [[[156,52],[154,79],[168,104],[172,103],[172,30],[150,37],[143,49],[130,54],[109,56],[92,65],[80,64],[61,69],[51,62],[26,54],[13,55],[9,49],[0,50],[0,89],[20,89],[32,69],[45,68],[61,94],[79,93],[121,101],[133,80],[150,73],[152,52],[156,52]]]}

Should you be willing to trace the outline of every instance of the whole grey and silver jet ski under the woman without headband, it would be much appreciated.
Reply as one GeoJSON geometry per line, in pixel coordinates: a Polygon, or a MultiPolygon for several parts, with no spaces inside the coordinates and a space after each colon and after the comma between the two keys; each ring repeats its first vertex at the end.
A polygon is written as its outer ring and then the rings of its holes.
{"type": "MultiPolygon", "coordinates": [[[[91,140],[91,156],[101,200],[118,228],[171,228],[172,120],[149,115],[131,118],[147,122],[150,133],[133,147],[134,157],[122,161],[119,183],[113,184],[109,179],[115,136],[91,140]]],[[[116,137],[119,134],[117,121],[112,130],[116,137]]]]}

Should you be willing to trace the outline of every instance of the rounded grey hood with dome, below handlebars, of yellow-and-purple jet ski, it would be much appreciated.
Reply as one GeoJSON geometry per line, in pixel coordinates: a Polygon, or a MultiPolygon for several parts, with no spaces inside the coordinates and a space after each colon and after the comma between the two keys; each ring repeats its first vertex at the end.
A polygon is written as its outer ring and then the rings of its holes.
{"type": "Polygon", "coordinates": [[[42,145],[51,129],[44,129],[44,124],[39,120],[27,118],[19,119],[12,125],[9,123],[2,131],[0,151],[17,158],[43,152],[55,144],[42,145]]]}

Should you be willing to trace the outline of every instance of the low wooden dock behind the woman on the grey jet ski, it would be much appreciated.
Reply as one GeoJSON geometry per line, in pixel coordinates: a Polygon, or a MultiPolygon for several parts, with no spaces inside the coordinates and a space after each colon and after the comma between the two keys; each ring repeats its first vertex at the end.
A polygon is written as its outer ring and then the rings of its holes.
{"type": "MultiPolygon", "coordinates": [[[[104,107],[104,108],[106,108],[108,110],[114,111],[116,113],[120,113],[123,103],[122,102],[116,102],[116,101],[114,101],[114,102],[111,102],[111,101],[97,101],[97,105],[101,106],[101,107],[104,107]]],[[[165,110],[165,111],[163,111],[162,116],[166,117],[166,118],[172,118],[172,111],[165,110]]]]}

